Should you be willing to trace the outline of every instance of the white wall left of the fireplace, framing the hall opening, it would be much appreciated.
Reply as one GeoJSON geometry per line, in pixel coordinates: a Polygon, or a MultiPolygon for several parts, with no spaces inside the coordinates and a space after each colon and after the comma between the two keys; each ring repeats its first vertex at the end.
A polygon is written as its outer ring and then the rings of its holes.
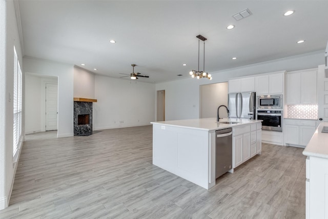
{"type": "Polygon", "coordinates": [[[57,137],[73,136],[73,65],[24,57],[24,72],[58,77],[57,137]]]}

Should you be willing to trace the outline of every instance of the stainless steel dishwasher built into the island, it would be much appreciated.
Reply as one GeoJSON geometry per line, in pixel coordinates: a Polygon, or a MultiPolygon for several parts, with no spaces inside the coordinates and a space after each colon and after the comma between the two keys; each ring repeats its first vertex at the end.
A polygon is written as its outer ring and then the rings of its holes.
{"type": "Polygon", "coordinates": [[[232,128],[215,131],[215,178],[232,168],[232,128]]]}

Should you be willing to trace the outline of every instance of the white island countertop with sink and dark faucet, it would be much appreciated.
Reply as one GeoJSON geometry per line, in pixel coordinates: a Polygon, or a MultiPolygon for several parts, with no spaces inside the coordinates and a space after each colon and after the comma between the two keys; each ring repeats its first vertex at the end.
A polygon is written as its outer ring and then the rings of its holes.
{"type": "Polygon", "coordinates": [[[220,118],[220,122],[216,122],[216,118],[195,118],[192,120],[151,122],[151,124],[212,131],[212,130],[236,127],[236,126],[250,124],[250,123],[262,122],[262,120],[249,120],[248,118],[220,118]],[[220,122],[238,122],[238,123],[224,124],[220,122]]]}

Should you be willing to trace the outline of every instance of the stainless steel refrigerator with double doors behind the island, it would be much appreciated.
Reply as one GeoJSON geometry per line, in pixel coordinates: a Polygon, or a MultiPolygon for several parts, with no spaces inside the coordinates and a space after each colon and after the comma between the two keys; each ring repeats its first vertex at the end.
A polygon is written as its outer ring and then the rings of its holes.
{"type": "Polygon", "coordinates": [[[255,120],[255,92],[229,93],[229,118],[250,118],[255,120]]]}

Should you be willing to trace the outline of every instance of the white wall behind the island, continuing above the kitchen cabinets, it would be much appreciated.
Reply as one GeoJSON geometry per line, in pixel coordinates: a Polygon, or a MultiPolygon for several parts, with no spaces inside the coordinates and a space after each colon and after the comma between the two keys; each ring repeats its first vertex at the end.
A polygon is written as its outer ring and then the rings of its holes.
{"type": "MultiPolygon", "coordinates": [[[[317,68],[324,64],[324,51],[303,55],[281,58],[270,62],[243,66],[218,72],[210,72],[212,81],[207,78],[180,79],[172,82],[156,84],[156,90],[165,90],[165,118],[169,120],[183,120],[199,118],[199,86],[228,82],[228,79],[245,75],[269,73],[275,71],[294,71],[301,69],[317,68]]],[[[188,74],[182,72],[181,74],[188,74]]]]}

